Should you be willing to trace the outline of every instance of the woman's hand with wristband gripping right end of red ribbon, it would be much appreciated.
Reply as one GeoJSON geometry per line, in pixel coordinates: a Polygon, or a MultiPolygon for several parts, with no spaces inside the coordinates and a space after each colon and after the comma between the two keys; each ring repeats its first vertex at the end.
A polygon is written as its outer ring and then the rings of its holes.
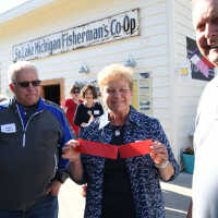
{"type": "Polygon", "coordinates": [[[152,153],[150,157],[153,158],[155,165],[161,166],[168,161],[168,150],[167,147],[160,142],[156,141],[150,146],[152,153]]]}

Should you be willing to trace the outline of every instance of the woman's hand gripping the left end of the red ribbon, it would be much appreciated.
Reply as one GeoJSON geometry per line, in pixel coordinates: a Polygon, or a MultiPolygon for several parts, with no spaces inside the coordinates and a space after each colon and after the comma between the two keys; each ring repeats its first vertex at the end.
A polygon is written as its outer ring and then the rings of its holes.
{"type": "Polygon", "coordinates": [[[80,152],[76,147],[80,146],[80,143],[75,140],[69,141],[65,146],[62,148],[63,155],[62,158],[69,159],[70,161],[77,161],[80,160],[80,152]]]}

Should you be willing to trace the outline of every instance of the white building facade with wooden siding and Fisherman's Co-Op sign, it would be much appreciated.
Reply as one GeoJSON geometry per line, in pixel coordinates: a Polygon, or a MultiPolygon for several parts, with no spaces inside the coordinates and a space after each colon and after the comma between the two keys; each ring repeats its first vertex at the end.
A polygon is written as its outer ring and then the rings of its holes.
{"type": "Polygon", "coordinates": [[[43,96],[55,101],[75,82],[95,83],[108,64],[132,64],[133,105],[160,120],[178,160],[191,146],[207,83],[192,78],[186,58],[191,0],[32,0],[0,14],[0,29],[2,94],[9,94],[8,68],[20,59],[37,65],[43,96]]]}

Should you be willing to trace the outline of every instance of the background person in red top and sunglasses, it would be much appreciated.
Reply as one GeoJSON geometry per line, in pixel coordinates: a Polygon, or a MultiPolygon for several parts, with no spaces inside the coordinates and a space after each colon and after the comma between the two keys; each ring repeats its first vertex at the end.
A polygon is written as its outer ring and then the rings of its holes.
{"type": "Polygon", "coordinates": [[[65,116],[69,120],[69,122],[71,123],[71,126],[75,133],[75,135],[78,135],[78,126],[74,124],[74,114],[76,111],[76,107],[78,104],[83,102],[82,100],[80,100],[80,93],[81,89],[77,85],[73,85],[71,88],[71,98],[65,99],[61,106],[65,111],[65,116]]]}

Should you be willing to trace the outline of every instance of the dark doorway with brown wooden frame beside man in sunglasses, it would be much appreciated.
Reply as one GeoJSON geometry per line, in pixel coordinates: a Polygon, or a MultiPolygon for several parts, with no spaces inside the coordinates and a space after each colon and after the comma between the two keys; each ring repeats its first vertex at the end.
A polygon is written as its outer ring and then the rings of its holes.
{"type": "Polygon", "coordinates": [[[63,78],[56,78],[41,82],[41,97],[46,100],[53,101],[58,105],[64,99],[63,97],[63,78]]]}

